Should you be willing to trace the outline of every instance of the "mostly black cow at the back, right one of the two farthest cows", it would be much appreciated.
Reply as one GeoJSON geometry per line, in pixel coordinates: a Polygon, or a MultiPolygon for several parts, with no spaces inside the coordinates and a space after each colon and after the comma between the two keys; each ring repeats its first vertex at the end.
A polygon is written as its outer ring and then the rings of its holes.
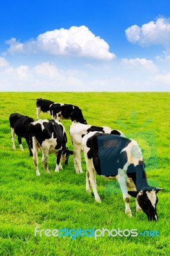
{"type": "Polygon", "coordinates": [[[87,124],[79,107],[70,104],[54,103],[50,105],[50,115],[57,119],[71,119],[72,123],[87,124]]]}

